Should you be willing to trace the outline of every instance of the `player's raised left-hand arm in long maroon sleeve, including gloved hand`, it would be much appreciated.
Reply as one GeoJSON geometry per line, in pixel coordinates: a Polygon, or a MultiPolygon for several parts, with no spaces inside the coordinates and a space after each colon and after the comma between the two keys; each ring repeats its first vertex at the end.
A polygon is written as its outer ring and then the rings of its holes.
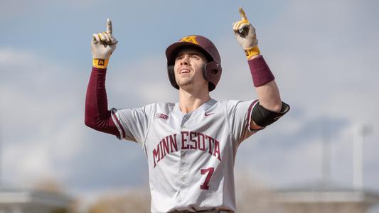
{"type": "Polygon", "coordinates": [[[107,65],[116,43],[117,40],[112,35],[112,22],[108,18],[107,31],[92,35],[93,62],[85,97],[85,125],[97,131],[119,136],[117,126],[112,121],[111,111],[108,110],[105,90],[107,65]]]}

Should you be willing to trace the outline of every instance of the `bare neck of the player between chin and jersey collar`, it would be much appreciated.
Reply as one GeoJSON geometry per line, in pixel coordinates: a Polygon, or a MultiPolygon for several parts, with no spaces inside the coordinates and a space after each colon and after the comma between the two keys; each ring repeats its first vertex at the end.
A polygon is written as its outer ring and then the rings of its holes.
{"type": "Polygon", "coordinates": [[[185,114],[198,109],[202,104],[210,100],[208,89],[196,93],[179,89],[179,108],[185,114]]]}

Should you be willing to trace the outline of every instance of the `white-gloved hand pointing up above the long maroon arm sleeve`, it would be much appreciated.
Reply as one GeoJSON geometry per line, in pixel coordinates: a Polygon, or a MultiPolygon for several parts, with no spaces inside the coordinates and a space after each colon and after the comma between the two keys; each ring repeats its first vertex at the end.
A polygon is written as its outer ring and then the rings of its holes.
{"type": "Polygon", "coordinates": [[[92,35],[91,50],[93,58],[109,59],[116,49],[117,40],[112,35],[112,21],[107,19],[107,31],[92,35]]]}

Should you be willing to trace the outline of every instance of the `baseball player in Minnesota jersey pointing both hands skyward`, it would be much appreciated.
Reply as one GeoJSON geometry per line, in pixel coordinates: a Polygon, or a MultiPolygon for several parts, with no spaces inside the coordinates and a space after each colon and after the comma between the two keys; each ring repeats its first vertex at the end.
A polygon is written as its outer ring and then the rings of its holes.
{"type": "Polygon", "coordinates": [[[257,46],[255,28],[240,9],[233,25],[245,50],[257,99],[218,102],[210,97],[220,80],[221,58],[204,36],[188,35],[166,49],[167,72],[178,103],[108,109],[105,75],[117,45],[112,23],[92,35],[93,67],[85,100],[85,124],[134,141],[149,165],[151,212],[235,212],[233,167],[246,138],[287,113],[274,75],[257,46]]]}

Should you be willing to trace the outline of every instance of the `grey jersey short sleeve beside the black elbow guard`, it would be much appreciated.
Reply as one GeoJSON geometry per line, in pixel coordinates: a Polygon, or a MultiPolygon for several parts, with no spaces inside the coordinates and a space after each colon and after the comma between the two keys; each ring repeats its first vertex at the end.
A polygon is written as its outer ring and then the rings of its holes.
{"type": "Polygon", "coordinates": [[[259,131],[250,129],[252,108],[257,103],[257,99],[245,102],[229,100],[226,105],[230,132],[238,144],[259,131]]]}

